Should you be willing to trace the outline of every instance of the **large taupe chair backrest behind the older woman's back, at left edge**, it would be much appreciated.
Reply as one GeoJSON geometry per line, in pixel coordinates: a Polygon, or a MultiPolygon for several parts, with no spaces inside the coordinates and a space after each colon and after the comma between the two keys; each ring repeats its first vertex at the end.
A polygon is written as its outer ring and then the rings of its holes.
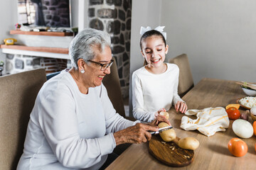
{"type": "Polygon", "coordinates": [[[45,81],[45,69],[0,77],[0,169],[16,169],[29,115],[45,81]]]}

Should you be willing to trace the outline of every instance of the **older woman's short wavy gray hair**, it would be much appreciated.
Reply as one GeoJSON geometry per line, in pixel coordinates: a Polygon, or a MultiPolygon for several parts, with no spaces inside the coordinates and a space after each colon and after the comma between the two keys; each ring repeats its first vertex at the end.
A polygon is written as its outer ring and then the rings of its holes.
{"type": "Polygon", "coordinates": [[[105,46],[111,45],[110,35],[93,28],[82,30],[70,42],[69,55],[71,57],[71,65],[78,69],[78,60],[82,59],[85,62],[92,60],[95,57],[93,47],[100,47],[100,51],[105,49],[105,46]]]}

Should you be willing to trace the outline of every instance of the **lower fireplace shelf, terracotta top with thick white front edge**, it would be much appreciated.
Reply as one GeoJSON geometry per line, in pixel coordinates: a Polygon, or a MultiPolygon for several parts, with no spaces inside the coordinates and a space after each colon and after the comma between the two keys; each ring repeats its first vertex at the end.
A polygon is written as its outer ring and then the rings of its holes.
{"type": "Polygon", "coordinates": [[[68,48],[60,47],[28,47],[24,45],[0,45],[1,51],[6,54],[31,55],[70,60],[68,48]]]}

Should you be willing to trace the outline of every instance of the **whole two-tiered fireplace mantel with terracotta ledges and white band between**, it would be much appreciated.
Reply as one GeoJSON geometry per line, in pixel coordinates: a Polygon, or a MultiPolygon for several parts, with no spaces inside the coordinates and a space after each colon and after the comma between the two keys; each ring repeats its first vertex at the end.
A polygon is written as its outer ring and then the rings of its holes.
{"type": "Polygon", "coordinates": [[[17,36],[21,35],[22,37],[18,37],[21,40],[18,41],[23,41],[25,45],[0,45],[1,52],[3,53],[13,55],[29,55],[36,57],[50,57],[66,60],[70,59],[67,46],[69,45],[70,40],[73,39],[73,33],[10,30],[10,34],[17,36]],[[40,36],[40,38],[37,38],[36,36],[40,36]],[[37,44],[37,42],[40,40],[41,42],[44,42],[44,45],[37,44]],[[58,40],[57,45],[59,45],[59,47],[54,47],[56,44],[50,45],[50,43],[54,40],[58,40]],[[66,43],[63,44],[63,42],[66,43]]]}

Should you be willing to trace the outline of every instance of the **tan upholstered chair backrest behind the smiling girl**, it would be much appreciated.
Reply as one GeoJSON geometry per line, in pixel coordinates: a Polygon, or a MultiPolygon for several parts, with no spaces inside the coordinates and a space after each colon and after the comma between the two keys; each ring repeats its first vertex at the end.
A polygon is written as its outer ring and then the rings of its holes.
{"type": "Polygon", "coordinates": [[[188,56],[186,54],[178,55],[177,57],[171,58],[169,62],[178,65],[178,95],[183,97],[194,86],[188,56]]]}

